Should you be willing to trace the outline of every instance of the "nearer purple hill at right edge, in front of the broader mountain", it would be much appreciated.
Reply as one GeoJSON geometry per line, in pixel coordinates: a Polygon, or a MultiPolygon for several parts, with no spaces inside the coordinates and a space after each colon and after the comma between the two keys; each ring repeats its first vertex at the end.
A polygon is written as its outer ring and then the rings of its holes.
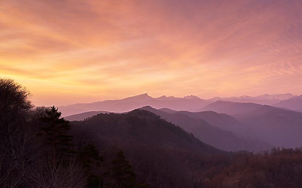
{"type": "Polygon", "coordinates": [[[264,105],[248,113],[235,115],[263,141],[281,147],[302,146],[302,113],[264,105]]]}

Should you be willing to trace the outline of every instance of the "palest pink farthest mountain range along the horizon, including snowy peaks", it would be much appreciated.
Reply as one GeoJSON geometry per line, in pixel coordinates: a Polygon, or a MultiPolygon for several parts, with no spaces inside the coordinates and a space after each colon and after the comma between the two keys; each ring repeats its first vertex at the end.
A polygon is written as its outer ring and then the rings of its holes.
{"type": "Polygon", "coordinates": [[[109,112],[128,112],[143,106],[152,106],[154,108],[169,108],[172,110],[185,110],[198,112],[205,106],[221,101],[233,102],[254,102],[258,104],[274,104],[281,100],[293,97],[292,94],[264,94],[259,96],[240,96],[240,97],[214,97],[211,99],[201,99],[198,96],[188,95],[185,97],[161,96],[151,97],[148,94],[139,94],[123,99],[105,100],[92,103],[79,103],[67,106],[59,106],[63,116],[79,114],[88,111],[109,111],[109,112]]]}

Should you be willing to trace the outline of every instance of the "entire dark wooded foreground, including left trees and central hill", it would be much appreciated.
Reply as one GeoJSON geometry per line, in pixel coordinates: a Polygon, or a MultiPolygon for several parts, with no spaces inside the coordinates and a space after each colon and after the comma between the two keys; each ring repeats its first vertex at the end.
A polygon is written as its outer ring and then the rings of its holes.
{"type": "Polygon", "coordinates": [[[69,122],[0,79],[1,188],[301,188],[302,148],[226,152],[145,110],[69,122]]]}

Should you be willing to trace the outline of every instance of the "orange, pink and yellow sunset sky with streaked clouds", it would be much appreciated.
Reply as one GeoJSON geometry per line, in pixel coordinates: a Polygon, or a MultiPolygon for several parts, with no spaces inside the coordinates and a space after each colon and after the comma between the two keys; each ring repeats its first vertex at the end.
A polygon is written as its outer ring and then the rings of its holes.
{"type": "Polygon", "coordinates": [[[35,105],[302,94],[302,1],[0,0],[0,77],[35,105]]]}

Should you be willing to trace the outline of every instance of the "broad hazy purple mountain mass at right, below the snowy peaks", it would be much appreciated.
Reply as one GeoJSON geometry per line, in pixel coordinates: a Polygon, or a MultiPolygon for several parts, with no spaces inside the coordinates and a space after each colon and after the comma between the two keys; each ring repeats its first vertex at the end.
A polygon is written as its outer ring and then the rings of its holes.
{"type": "MultiPolygon", "coordinates": [[[[285,107],[285,106],[284,106],[285,107]]],[[[204,107],[238,119],[251,131],[241,132],[275,146],[302,146],[302,113],[255,103],[217,101],[204,107]]]]}

